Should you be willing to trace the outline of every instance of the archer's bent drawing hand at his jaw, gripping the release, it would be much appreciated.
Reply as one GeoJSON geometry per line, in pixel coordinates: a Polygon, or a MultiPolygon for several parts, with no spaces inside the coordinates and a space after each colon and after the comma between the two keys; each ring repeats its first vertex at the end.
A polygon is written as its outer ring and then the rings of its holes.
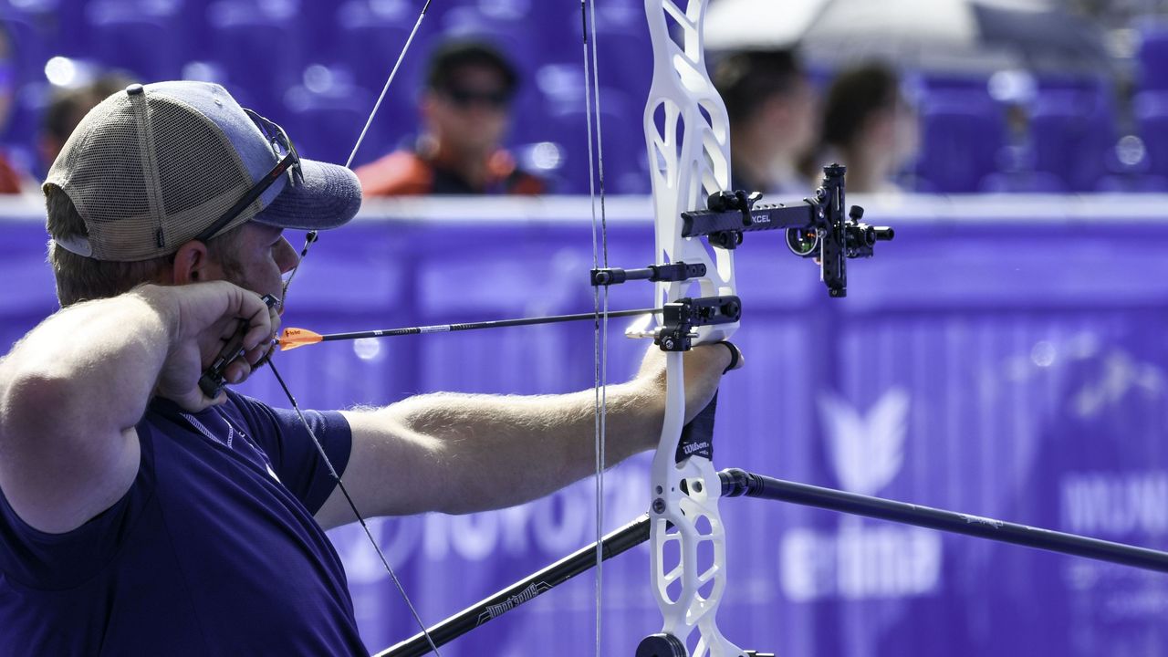
{"type": "Polygon", "coordinates": [[[167,288],[146,285],[135,293],[154,305],[169,326],[169,350],[155,393],[186,410],[202,410],[225,401],[225,393],[208,399],[199,388],[199,378],[242,324],[248,326],[244,354],[224,371],[230,383],[251,374],[252,366],[271,350],[279,328],[276,310],[269,309],[258,295],[223,281],[167,288]]]}

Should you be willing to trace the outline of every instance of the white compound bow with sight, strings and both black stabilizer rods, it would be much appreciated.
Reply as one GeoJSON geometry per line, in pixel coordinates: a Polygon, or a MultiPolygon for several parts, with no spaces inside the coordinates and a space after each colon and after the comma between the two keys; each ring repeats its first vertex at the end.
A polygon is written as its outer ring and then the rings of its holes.
{"type": "MultiPolygon", "coordinates": [[[[707,74],[703,47],[703,20],[709,0],[645,0],[649,33],[654,48],[654,77],[644,125],[653,177],[654,220],[658,263],[644,269],[613,269],[597,265],[592,284],[597,288],[598,326],[597,379],[603,380],[604,365],[599,331],[606,324],[607,297],[600,303],[600,291],[626,281],[654,282],[656,306],[661,320],[651,332],[634,337],[652,337],[667,352],[667,396],[661,437],[652,465],[651,511],[625,527],[599,537],[596,546],[586,547],[533,574],[516,585],[470,607],[461,614],[427,631],[399,643],[381,656],[404,657],[438,653],[437,645],[506,613],[522,602],[566,581],[590,566],[596,566],[597,580],[597,653],[600,653],[599,565],[645,540],[652,540],[653,592],[663,616],[662,630],[646,637],[637,649],[638,657],[762,657],[739,649],[718,631],[716,613],[726,588],[725,528],[718,511],[721,497],[750,496],[776,499],[855,513],[940,531],[957,532],[992,540],[1124,563],[1139,568],[1168,572],[1168,553],[1064,534],[1049,530],[1015,525],[990,518],[904,504],[783,482],[742,470],[717,472],[712,466],[712,426],[715,401],[684,424],[684,383],[682,354],[694,344],[726,340],[738,326],[742,306],[735,295],[732,251],[745,233],[786,230],[787,247],[798,256],[815,258],[828,293],[847,293],[847,258],[872,255],[876,242],[891,240],[892,230],[860,222],[862,208],[846,210],[842,166],[823,168],[823,182],[802,203],[760,206],[758,194],[730,192],[730,141],[725,106],[707,74]],[[705,209],[698,209],[702,199],[705,209]],[[709,248],[698,240],[705,237],[709,248]],[[712,250],[711,250],[712,249],[712,250]],[[690,290],[698,296],[688,297],[690,290]],[[595,555],[595,560],[590,559],[595,555]],[[696,636],[695,636],[696,631],[696,636]],[[690,644],[694,644],[690,652],[690,644]]],[[[413,39],[429,0],[406,41],[413,39]]],[[[589,78],[588,0],[584,12],[585,79],[589,78]]],[[[593,9],[595,14],[595,9],[593,9]]],[[[595,20],[593,29],[595,29],[595,20]]],[[[592,39],[592,84],[596,40],[592,39]]],[[[394,72],[405,56],[403,49],[394,72]]],[[[394,78],[390,74],[381,98],[394,78]]],[[[585,94],[586,102],[590,95],[585,94]]],[[[381,98],[377,105],[380,106],[381,98]]],[[[373,122],[370,115],[366,129],[373,122]]],[[[599,155],[599,98],[596,105],[596,143],[599,155]]],[[[590,119],[591,122],[591,119],[590,119]]],[[[362,132],[362,138],[364,132],[362,132]]],[[[589,125],[590,148],[592,125],[589,125]]],[[[360,146],[354,147],[354,153],[360,146]]],[[[352,161],[353,155],[349,160],[352,161]]],[[[590,160],[591,152],[590,152],[590,160]]],[[[603,157],[597,158],[603,217],[603,157]]],[[[593,195],[595,196],[595,195],[593,195]]],[[[593,205],[595,207],[595,205],[593,205]]],[[[602,230],[604,222],[602,220],[602,230]]],[[[310,234],[305,250],[315,240],[310,234]]],[[[290,278],[291,281],[291,278],[290,278]]],[[[616,316],[618,313],[612,313],[616,316]]],[[[556,319],[556,318],[550,318],[556,319]]],[[[558,318],[563,320],[563,318],[558,318]]],[[[530,320],[507,321],[507,325],[530,320]]],[[[484,323],[489,324],[489,323],[484,323]]],[[[464,325],[465,327],[478,327],[464,325]]],[[[423,327],[425,328],[425,327],[423,327]]],[[[424,332],[422,328],[401,330],[424,332]]],[[[274,368],[273,368],[274,372],[274,368]]],[[[278,378],[277,373],[277,378],[278,378]]],[[[280,381],[283,386],[283,380],[280,381]]],[[[287,387],[284,386],[285,392],[287,387]]],[[[597,394],[597,531],[599,533],[604,465],[604,393],[597,394]]],[[[296,400],[288,399],[297,408],[296,400]]],[[[297,413],[299,409],[297,408],[297,413]]],[[[303,420],[303,416],[301,416],[303,420]]],[[[305,427],[308,424],[305,422],[305,427]]],[[[312,430],[308,428],[308,433],[312,430]]],[[[321,449],[318,443],[318,449],[321,449]]],[[[321,449],[324,455],[324,450],[321,449]]],[[[327,462],[327,456],[325,457],[327,462]]],[[[340,477],[333,472],[343,491],[340,477]]],[[[346,493],[346,497],[348,493],[346,493]]],[[[352,500],[349,500],[353,505],[352,500]]],[[[353,507],[356,518],[364,520],[353,507]]],[[[368,528],[366,528],[368,533],[368,528]]],[[[395,583],[388,561],[376,540],[370,541],[381,555],[395,583]]],[[[409,604],[409,596],[397,583],[409,604]]],[[[412,610],[412,604],[410,604],[412,610]]],[[[415,617],[417,614],[415,613],[415,617]]],[[[422,624],[418,620],[419,625],[422,624]]]]}

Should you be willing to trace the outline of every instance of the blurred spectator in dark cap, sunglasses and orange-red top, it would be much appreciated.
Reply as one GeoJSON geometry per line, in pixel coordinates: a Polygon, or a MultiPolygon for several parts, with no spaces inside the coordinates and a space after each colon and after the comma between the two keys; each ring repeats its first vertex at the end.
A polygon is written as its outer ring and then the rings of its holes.
{"type": "Polygon", "coordinates": [[[430,58],[420,98],[423,133],[356,174],[367,196],[417,194],[541,194],[544,182],[521,171],[501,148],[519,84],[494,48],[449,41],[430,58]]]}

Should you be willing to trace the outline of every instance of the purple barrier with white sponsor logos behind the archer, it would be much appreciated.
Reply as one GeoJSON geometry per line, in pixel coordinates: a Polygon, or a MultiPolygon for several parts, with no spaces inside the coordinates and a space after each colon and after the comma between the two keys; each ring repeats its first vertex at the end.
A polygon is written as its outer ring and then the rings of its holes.
{"type": "MultiPolygon", "coordinates": [[[[1049,206],[1021,203],[958,221],[910,213],[908,202],[869,207],[897,240],[853,265],[846,300],[826,298],[814,268],[778,235],[749,235],[737,337],[749,366],[723,385],[716,463],[1168,548],[1168,222],[1155,199],[1142,210],[1051,203],[1070,209],[1036,219],[1028,208],[1049,206]]],[[[465,209],[479,206],[451,207],[425,209],[432,221],[378,219],[373,208],[325,235],[293,285],[286,325],[324,332],[591,307],[585,222],[533,219],[533,206],[515,207],[522,219],[474,221],[465,209]],[[437,220],[452,215],[466,220],[437,220]]],[[[484,207],[470,214],[499,214],[484,207]]],[[[644,265],[651,240],[647,220],[612,222],[611,263],[644,265]]],[[[55,306],[42,243],[39,221],[0,221],[0,344],[55,306]]],[[[614,309],[649,298],[635,285],[613,292],[614,309]]],[[[612,380],[645,348],[621,328],[613,321],[612,380]]],[[[557,393],[591,386],[592,334],[585,324],[408,337],[280,360],[314,407],[432,390],[557,393]]],[[[280,404],[270,376],[246,390],[280,404]]],[[[606,477],[606,530],[644,511],[647,463],[606,477]]],[[[433,623],[590,541],[592,493],[584,482],[517,509],[383,520],[374,531],[433,623]]],[[[719,625],[743,648],[1168,652],[1163,575],[760,500],[726,500],[723,513],[731,590],[719,625]]],[[[332,535],[369,648],[413,634],[364,537],[332,535]]],[[[632,655],[660,627],[647,566],[644,547],[605,566],[605,655],[632,655]]],[[[591,655],[592,587],[584,575],[443,655],[591,655]]]]}

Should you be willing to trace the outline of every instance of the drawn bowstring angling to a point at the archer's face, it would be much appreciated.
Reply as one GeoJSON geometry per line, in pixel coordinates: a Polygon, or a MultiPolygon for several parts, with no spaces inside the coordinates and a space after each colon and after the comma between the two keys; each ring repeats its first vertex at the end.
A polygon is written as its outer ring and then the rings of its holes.
{"type": "MultiPolygon", "coordinates": [[[[373,111],[369,112],[369,118],[366,119],[364,127],[361,129],[361,134],[357,136],[357,141],[353,146],[353,151],[349,153],[349,158],[345,161],[345,168],[349,168],[349,166],[352,166],[353,159],[356,157],[357,150],[361,147],[361,143],[364,140],[366,134],[369,132],[369,126],[373,125],[374,117],[377,116],[377,110],[381,109],[382,101],[385,99],[385,95],[389,92],[390,84],[392,84],[394,78],[397,77],[397,70],[402,67],[402,62],[405,61],[405,54],[409,51],[410,46],[413,43],[413,37],[415,35],[417,35],[418,29],[422,27],[422,21],[425,20],[426,18],[426,9],[430,8],[430,1],[431,0],[426,0],[425,4],[422,6],[422,12],[418,14],[418,20],[413,23],[413,29],[410,30],[410,35],[405,40],[405,46],[402,47],[402,53],[397,56],[397,62],[394,63],[394,68],[392,70],[390,70],[389,77],[385,79],[385,85],[382,87],[381,95],[377,96],[377,102],[374,103],[373,111]]],[[[292,279],[296,278],[297,271],[300,270],[300,264],[304,263],[304,258],[308,255],[308,248],[317,240],[318,240],[317,230],[310,230],[308,234],[305,235],[304,248],[300,249],[300,257],[297,261],[296,267],[293,267],[292,271],[288,274],[288,277],[284,281],[284,289],[280,295],[281,303],[287,302],[288,285],[292,284],[292,279]]],[[[272,374],[276,375],[276,380],[279,381],[280,388],[283,388],[284,394],[288,397],[288,402],[292,404],[292,409],[296,412],[297,417],[300,419],[300,424],[304,426],[306,431],[308,431],[308,436],[312,438],[312,442],[315,445],[317,451],[320,452],[320,456],[324,459],[325,465],[328,468],[329,475],[333,477],[333,480],[336,482],[336,487],[345,496],[346,502],[348,502],[349,504],[349,509],[353,510],[353,514],[356,516],[357,521],[361,524],[361,528],[364,530],[366,537],[369,538],[369,542],[373,545],[373,548],[377,552],[377,556],[381,559],[382,566],[384,566],[385,572],[389,573],[389,578],[394,581],[394,586],[397,587],[397,592],[402,595],[402,600],[405,602],[405,606],[410,609],[410,614],[413,615],[415,622],[417,622],[418,627],[422,628],[422,634],[426,637],[426,643],[430,644],[430,649],[437,657],[442,657],[442,655],[438,652],[438,645],[434,643],[433,637],[430,636],[430,630],[426,629],[426,624],[422,621],[422,616],[418,615],[418,610],[413,607],[413,602],[410,600],[410,596],[406,595],[405,587],[402,586],[402,582],[401,580],[397,579],[397,574],[394,572],[392,566],[389,565],[389,559],[385,558],[385,553],[382,552],[381,546],[377,544],[377,539],[374,538],[373,532],[369,530],[369,525],[366,523],[364,517],[357,510],[356,503],[354,503],[353,497],[349,496],[349,491],[348,489],[346,489],[345,483],[341,480],[340,473],[338,473],[336,470],[333,468],[333,463],[329,461],[328,454],[325,452],[325,447],[320,443],[320,440],[317,438],[317,433],[312,430],[312,426],[308,424],[308,421],[307,419],[305,419],[304,413],[300,412],[300,404],[298,404],[296,397],[292,396],[292,390],[290,390],[287,385],[285,385],[284,378],[280,376],[280,373],[276,369],[276,366],[271,362],[271,360],[269,360],[267,367],[271,368],[272,374]]]]}

